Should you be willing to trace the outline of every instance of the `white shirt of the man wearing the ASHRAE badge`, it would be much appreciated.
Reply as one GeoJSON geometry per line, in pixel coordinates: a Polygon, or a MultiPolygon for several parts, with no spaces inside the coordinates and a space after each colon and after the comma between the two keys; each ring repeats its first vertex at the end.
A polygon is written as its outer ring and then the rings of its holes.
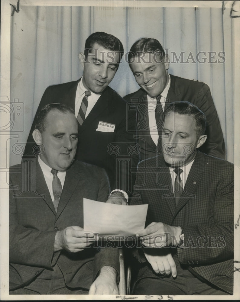
{"type": "MultiPolygon", "coordinates": [[[[85,97],[85,91],[87,91],[87,89],[83,86],[83,77],[82,77],[81,80],[78,82],[77,91],[76,91],[76,98],[75,98],[75,116],[76,117],[78,115],[83,98],[85,97]]],[[[101,96],[101,94],[96,94],[92,91],[90,91],[90,92],[91,92],[91,95],[89,95],[87,98],[88,106],[87,106],[85,118],[88,116],[89,112],[92,110],[93,106],[96,104],[97,100],[101,96]]]]}

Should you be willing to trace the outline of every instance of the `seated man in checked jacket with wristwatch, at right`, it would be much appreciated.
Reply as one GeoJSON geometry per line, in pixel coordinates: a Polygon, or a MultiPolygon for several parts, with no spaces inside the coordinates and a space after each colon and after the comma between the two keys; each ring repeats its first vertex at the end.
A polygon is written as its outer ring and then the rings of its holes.
{"type": "Polygon", "coordinates": [[[233,293],[234,165],[197,151],[205,128],[195,105],[169,104],[162,154],[138,165],[131,204],[148,213],[134,294],[233,293]]]}

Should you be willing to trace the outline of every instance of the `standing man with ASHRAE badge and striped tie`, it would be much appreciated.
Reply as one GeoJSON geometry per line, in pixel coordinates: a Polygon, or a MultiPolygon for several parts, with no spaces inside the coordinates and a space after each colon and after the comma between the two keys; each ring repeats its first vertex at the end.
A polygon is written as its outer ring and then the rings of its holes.
{"type": "MultiPolygon", "coordinates": [[[[76,159],[104,168],[109,176],[111,189],[122,190],[119,197],[130,192],[130,172],[125,161],[131,157],[135,129],[134,115],[126,120],[126,102],[108,85],[112,81],[123,55],[121,41],[104,32],[91,34],[85,43],[84,53],[79,54],[83,66],[81,79],[49,86],[41,99],[37,113],[50,103],[68,104],[79,122],[76,159]],[[118,159],[117,159],[118,157],[118,159]],[[122,161],[120,160],[122,159],[122,161]],[[117,162],[120,160],[120,164],[117,162]],[[117,170],[118,165],[118,170],[117,170]]],[[[31,128],[23,158],[32,154],[34,141],[31,128]]],[[[135,147],[135,145],[134,145],[135,147]]],[[[132,158],[136,167],[138,158],[132,158]]]]}

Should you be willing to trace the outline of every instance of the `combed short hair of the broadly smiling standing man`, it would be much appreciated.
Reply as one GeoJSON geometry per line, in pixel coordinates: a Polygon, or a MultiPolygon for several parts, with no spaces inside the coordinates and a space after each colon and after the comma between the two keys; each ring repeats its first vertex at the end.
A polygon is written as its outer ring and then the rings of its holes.
{"type": "Polygon", "coordinates": [[[157,53],[162,61],[164,61],[166,56],[161,43],[154,38],[141,38],[137,40],[129,50],[128,64],[130,65],[135,57],[140,56],[140,53],[157,53]]]}

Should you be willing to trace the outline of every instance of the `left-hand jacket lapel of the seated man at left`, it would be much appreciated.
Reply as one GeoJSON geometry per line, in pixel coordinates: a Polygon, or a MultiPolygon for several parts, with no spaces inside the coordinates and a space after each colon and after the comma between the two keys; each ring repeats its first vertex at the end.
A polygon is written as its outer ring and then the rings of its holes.
{"type": "Polygon", "coordinates": [[[42,169],[40,168],[37,158],[34,163],[35,171],[31,171],[30,173],[28,173],[29,181],[32,184],[32,188],[36,189],[36,192],[41,196],[41,198],[43,198],[43,200],[46,202],[52,212],[56,214],[52,198],[50,196],[42,169]]]}

